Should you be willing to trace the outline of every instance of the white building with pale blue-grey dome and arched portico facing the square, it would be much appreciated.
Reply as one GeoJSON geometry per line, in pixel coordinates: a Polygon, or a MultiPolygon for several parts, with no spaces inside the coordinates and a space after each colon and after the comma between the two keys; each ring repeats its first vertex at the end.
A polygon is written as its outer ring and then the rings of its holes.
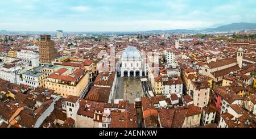
{"type": "Polygon", "coordinates": [[[121,61],[121,77],[141,77],[144,75],[145,66],[137,48],[129,46],[123,50],[121,61]]]}

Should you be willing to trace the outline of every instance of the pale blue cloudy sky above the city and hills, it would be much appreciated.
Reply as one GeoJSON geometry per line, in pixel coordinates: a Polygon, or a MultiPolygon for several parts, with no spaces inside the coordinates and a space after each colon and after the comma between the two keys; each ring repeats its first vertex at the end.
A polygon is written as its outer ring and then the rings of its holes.
{"type": "Polygon", "coordinates": [[[0,30],[147,31],[256,23],[255,0],[6,0],[0,30]]]}

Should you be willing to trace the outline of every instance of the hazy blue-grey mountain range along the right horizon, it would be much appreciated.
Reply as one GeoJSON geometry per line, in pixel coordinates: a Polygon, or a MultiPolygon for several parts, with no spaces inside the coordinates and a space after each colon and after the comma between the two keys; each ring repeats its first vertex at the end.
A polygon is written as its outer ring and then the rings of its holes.
{"type": "Polygon", "coordinates": [[[204,30],[152,30],[146,33],[207,33],[207,32],[237,32],[244,30],[256,30],[255,23],[232,23],[216,28],[205,28],[204,30]]]}

